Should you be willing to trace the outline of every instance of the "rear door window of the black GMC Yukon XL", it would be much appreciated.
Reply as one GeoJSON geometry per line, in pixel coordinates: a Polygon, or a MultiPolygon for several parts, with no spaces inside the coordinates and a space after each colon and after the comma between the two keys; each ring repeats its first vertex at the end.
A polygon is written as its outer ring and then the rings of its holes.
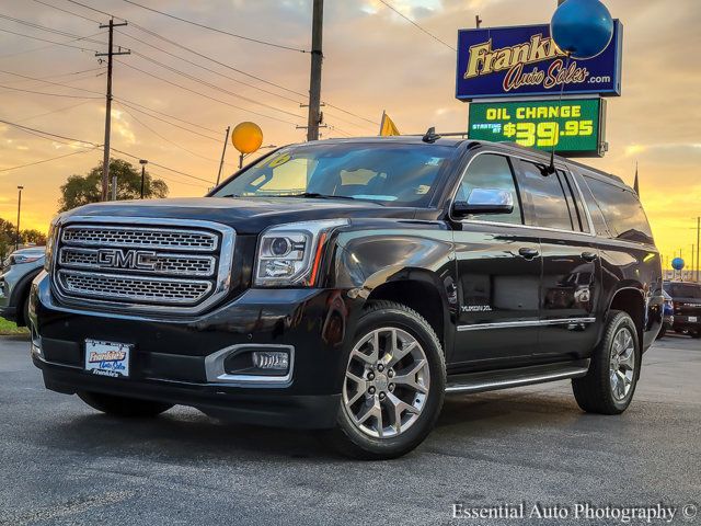
{"type": "Polygon", "coordinates": [[[572,230],[570,207],[560,176],[556,173],[543,175],[541,169],[532,162],[521,162],[521,167],[524,190],[530,195],[535,208],[536,217],[531,220],[535,221],[533,225],[572,230]]]}

